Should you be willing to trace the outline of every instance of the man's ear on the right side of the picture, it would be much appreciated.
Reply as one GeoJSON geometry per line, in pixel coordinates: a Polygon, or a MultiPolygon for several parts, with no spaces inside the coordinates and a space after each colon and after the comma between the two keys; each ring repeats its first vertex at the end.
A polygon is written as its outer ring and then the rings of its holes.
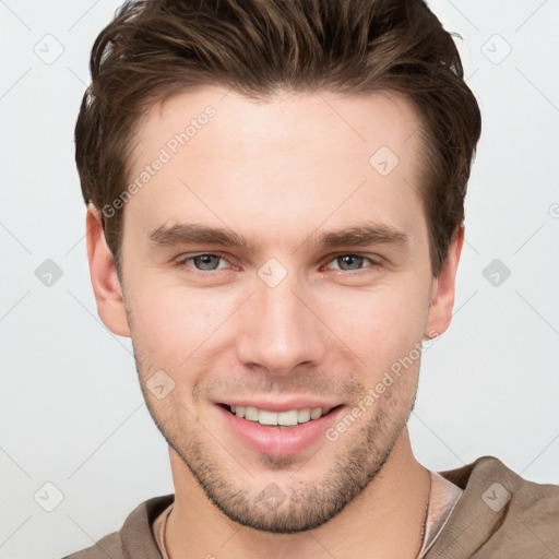
{"type": "Polygon", "coordinates": [[[452,237],[447,260],[438,277],[432,280],[431,304],[425,337],[432,338],[441,335],[449,328],[452,320],[454,307],[454,295],[456,286],[456,269],[459,267],[460,254],[464,245],[464,226],[460,225],[452,237]]]}

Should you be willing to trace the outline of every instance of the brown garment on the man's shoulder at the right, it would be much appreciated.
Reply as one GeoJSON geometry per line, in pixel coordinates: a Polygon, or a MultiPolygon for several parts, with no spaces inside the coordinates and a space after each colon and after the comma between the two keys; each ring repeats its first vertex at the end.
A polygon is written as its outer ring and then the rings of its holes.
{"type": "Polygon", "coordinates": [[[524,559],[559,551],[559,486],[525,479],[493,456],[440,474],[464,493],[428,557],[460,550],[524,559]]]}

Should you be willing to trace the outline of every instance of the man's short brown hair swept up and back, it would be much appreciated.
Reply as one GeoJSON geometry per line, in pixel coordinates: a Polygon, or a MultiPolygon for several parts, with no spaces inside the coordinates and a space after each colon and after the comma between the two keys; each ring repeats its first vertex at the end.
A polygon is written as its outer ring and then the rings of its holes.
{"type": "MultiPolygon", "coordinates": [[[[126,189],[134,124],[158,100],[204,85],[269,99],[280,90],[404,94],[421,121],[421,198],[438,275],[464,219],[481,119],[451,35],[421,0],[141,0],[97,37],[75,127],[86,203],[126,189]]],[[[103,215],[119,265],[122,209],[103,215]]]]}

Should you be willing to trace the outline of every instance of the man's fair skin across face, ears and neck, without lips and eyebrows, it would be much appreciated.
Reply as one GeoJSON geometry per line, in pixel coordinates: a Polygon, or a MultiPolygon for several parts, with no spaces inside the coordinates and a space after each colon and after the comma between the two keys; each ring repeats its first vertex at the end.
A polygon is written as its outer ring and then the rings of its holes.
{"type": "Polygon", "coordinates": [[[449,326],[463,228],[433,277],[421,139],[405,98],[278,92],[255,103],[226,93],[178,95],[138,123],[131,181],[185,122],[209,105],[216,111],[126,203],[121,277],[99,211],[87,213],[99,317],[132,337],[146,404],[169,443],[167,550],[173,559],[412,559],[429,491],[406,427],[418,358],[335,441],[320,437],[289,456],[240,442],[215,403],[320,395],[350,413],[414,344],[449,326]],[[400,159],[386,176],[369,164],[380,146],[400,159]],[[309,242],[366,221],[406,242],[309,242]],[[180,222],[228,228],[254,247],[150,241],[180,222]],[[200,253],[216,254],[218,270],[186,260],[200,253]],[[338,258],[347,254],[354,267],[338,258]],[[271,258],[287,274],[274,287],[258,275],[271,258]],[[160,400],[147,390],[157,370],[175,383],[160,400]],[[284,497],[272,508],[259,498],[271,484],[284,497]]]}

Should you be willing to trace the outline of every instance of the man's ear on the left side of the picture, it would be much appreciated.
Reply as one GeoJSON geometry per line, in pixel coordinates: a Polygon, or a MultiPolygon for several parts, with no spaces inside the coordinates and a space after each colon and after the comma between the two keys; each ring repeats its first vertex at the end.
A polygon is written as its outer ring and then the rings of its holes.
{"type": "Polygon", "coordinates": [[[85,227],[90,276],[97,301],[97,313],[114,334],[130,337],[122,287],[115,260],[105,240],[100,212],[93,204],[87,206],[85,227]]]}

